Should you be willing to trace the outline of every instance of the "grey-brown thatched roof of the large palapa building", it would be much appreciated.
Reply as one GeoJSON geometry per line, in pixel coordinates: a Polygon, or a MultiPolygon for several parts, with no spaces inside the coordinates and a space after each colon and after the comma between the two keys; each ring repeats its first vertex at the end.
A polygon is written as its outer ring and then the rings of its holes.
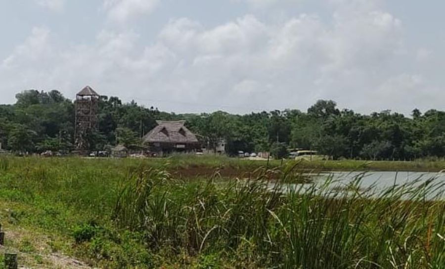
{"type": "Polygon", "coordinates": [[[158,126],[146,134],[144,143],[198,143],[196,135],[190,132],[185,121],[156,121],[158,126]]]}

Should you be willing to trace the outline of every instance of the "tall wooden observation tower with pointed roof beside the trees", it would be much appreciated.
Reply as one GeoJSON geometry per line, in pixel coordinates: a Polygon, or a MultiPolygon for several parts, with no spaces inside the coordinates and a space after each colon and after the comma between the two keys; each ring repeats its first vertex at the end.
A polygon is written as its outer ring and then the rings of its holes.
{"type": "Polygon", "coordinates": [[[88,135],[97,129],[99,94],[87,86],[76,95],[75,147],[79,153],[89,149],[88,135]]]}

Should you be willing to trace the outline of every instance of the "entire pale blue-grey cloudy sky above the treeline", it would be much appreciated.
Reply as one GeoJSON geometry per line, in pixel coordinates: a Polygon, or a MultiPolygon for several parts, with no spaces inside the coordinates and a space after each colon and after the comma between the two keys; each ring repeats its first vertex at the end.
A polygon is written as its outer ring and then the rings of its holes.
{"type": "Polygon", "coordinates": [[[162,111],[444,109],[443,0],[0,0],[0,103],[22,90],[162,111]]]}

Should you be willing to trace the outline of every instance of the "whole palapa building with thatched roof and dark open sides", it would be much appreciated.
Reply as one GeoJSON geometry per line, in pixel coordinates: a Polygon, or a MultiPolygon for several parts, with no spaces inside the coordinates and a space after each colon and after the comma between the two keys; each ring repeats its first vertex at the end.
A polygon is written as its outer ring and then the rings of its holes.
{"type": "Polygon", "coordinates": [[[189,153],[199,149],[196,135],[188,130],[185,121],[156,121],[158,126],[143,137],[149,151],[163,156],[175,152],[189,153]]]}

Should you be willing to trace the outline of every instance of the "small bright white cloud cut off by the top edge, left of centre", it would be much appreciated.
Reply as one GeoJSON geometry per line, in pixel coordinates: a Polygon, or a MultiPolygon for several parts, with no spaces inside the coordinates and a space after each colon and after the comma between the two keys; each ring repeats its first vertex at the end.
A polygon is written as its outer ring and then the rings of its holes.
{"type": "Polygon", "coordinates": [[[108,18],[118,22],[126,22],[136,16],[151,13],[159,0],[104,0],[104,8],[108,18]]]}

